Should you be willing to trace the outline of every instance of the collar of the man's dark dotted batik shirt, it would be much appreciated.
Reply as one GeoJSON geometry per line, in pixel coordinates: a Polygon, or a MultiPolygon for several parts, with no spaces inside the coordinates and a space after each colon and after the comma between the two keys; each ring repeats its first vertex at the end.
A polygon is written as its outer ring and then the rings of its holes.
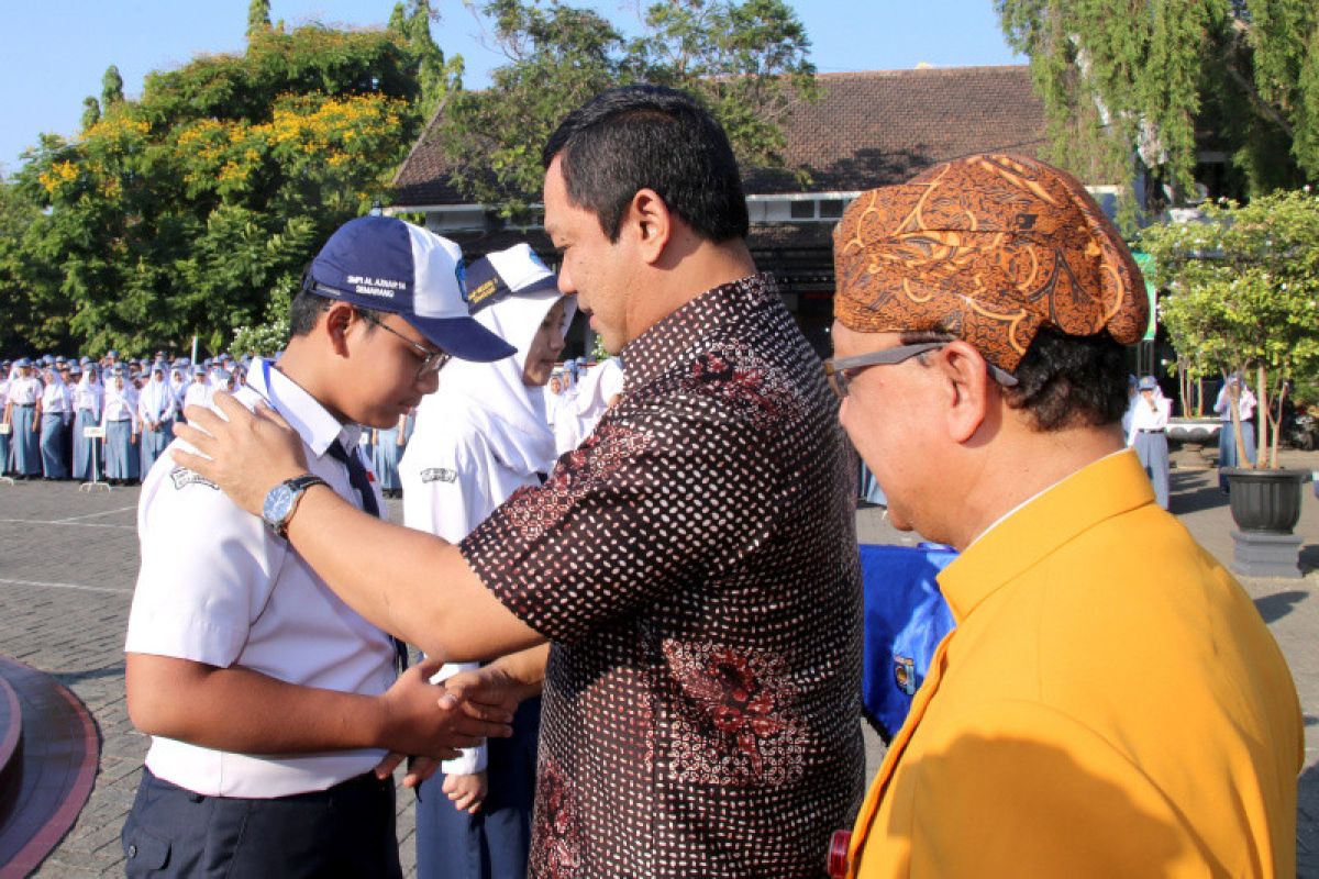
{"type": "Polygon", "coordinates": [[[712,329],[748,314],[761,302],[778,298],[774,275],[747,275],[711,287],[633,339],[619,354],[628,387],[645,385],[677,362],[690,360],[698,343],[712,329]]]}

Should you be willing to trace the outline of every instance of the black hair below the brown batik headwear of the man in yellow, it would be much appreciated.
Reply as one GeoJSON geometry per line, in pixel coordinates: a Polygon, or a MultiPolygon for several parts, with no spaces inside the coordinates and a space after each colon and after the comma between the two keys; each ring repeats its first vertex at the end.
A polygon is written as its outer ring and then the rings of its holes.
{"type": "MultiPolygon", "coordinates": [[[[905,332],[904,344],[951,341],[943,332],[905,332]]],[[[1013,370],[1014,387],[998,390],[1009,409],[1025,411],[1041,432],[1104,427],[1126,411],[1126,368],[1122,345],[1108,331],[1068,336],[1043,327],[1013,370]]]]}

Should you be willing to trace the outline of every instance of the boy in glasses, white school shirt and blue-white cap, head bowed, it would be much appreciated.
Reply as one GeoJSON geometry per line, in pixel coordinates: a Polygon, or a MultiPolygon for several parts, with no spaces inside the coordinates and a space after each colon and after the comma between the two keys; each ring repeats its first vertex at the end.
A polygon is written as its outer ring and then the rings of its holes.
{"type": "Polygon", "coordinates": [[[438,664],[396,680],[400,644],[282,536],[307,490],[379,515],[357,424],[396,422],[450,356],[512,353],[468,318],[459,257],[367,216],[313,260],[284,357],[255,361],[239,391],[293,424],[309,460],[262,517],[177,467],[174,447],[146,478],[125,650],[129,716],[153,739],[121,834],[128,875],[398,876],[386,755],[429,758],[425,775],[508,734],[509,706],[458,705],[427,683],[438,664]]]}

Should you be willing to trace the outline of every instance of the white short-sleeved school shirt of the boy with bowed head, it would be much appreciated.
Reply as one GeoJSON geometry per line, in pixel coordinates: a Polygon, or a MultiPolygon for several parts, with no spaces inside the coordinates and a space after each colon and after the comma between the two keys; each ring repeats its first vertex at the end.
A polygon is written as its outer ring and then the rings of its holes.
{"type": "MultiPolygon", "coordinates": [[[[248,407],[269,401],[302,438],[309,469],[360,506],[347,467],[327,453],[336,440],[355,448],[356,426],[339,424],[261,361],[236,397],[248,407]]],[[[162,457],[171,459],[177,444],[162,457]]],[[[260,518],[191,470],[173,460],[150,470],[137,530],[142,567],[128,619],[128,652],[240,666],[302,687],[367,696],[384,693],[394,681],[392,639],[335,596],[260,518]]],[[[323,791],[369,771],[383,756],[379,749],[235,754],[153,737],[146,766],[197,793],[260,799],[323,791]]]]}

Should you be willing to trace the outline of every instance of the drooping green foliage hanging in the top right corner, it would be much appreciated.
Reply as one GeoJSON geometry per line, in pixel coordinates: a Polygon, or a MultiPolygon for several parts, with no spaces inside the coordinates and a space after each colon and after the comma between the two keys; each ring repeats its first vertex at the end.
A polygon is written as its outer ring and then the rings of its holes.
{"type": "Polygon", "coordinates": [[[1198,152],[1231,158],[1229,194],[1319,178],[1312,0],[995,0],[1030,57],[1051,161],[1087,179],[1149,171],[1192,192],[1198,152]]]}

